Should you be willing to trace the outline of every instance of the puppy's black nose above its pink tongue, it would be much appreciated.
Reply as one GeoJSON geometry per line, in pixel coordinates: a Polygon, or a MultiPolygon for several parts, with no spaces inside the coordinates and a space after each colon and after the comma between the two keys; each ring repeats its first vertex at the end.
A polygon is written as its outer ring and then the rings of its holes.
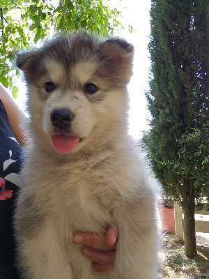
{"type": "Polygon", "coordinates": [[[54,126],[59,128],[68,127],[71,120],[72,113],[69,110],[52,110],[51,121],[54,126]]]}

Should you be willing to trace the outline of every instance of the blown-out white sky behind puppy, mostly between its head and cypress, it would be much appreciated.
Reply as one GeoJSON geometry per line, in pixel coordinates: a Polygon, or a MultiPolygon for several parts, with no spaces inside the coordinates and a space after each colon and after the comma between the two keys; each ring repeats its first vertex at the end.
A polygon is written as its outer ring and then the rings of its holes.
{"type": "MultiPolygon", "coordinates": [[[[125,24],[131,25],[134,29],[132,33],[123,32],[122,36],[129,43],[134,45],[134,74],[132,80],[128,85],[128,91],[130,96],[130,130],[129,133],[135,139],[141,138],[141,132],[148,130],[148,117],[149,112],[147,110],[147,103],[144,93],[148,89],[148,77],[149,77],[149,54],[148,54],[148,42],[150,35],[150,2],[137,1],[137,0],[111,0],[110,8],[118,8],[124,17],[125,24]]],[[[21,81],[17,86],[21,88],[21,91],[25,91],[21,81]]],[[[18,93],[16,100],[17,105],[24,110],[25,96],[18,93]]]]}

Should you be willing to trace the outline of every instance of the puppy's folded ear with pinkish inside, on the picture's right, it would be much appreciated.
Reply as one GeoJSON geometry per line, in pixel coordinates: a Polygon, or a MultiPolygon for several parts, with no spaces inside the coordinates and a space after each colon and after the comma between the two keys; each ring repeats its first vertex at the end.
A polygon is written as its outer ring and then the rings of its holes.
{"type": "Polygon", "coordinates": [[[132,75],[132,62],[134,59],[134,47],[120,38],[111,38],[104,42],[104,52],[114,61],[123,77],[129,82],[132,75]]]}

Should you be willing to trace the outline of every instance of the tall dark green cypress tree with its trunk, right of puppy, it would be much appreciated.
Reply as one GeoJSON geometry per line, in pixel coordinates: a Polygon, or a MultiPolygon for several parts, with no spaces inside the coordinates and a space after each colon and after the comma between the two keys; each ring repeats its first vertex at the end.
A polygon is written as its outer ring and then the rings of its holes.
{"type": "Polygon", "coordinates": [[[185,251],[196,254],[195,202],[209,196],[209,0],[152,0],[152,116],[144,137],[164,193],[183,206],[185,251]]]}

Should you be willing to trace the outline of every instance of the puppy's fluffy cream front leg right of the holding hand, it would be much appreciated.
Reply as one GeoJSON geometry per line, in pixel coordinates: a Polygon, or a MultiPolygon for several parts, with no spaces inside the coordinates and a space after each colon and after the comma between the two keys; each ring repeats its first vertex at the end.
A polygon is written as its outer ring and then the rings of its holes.
{"type": "Polygon", "coordinates": [[[114,213],[119,231],[118,279],[157,279],[157,229],[150,201],[129,204],[114,213]]]}

